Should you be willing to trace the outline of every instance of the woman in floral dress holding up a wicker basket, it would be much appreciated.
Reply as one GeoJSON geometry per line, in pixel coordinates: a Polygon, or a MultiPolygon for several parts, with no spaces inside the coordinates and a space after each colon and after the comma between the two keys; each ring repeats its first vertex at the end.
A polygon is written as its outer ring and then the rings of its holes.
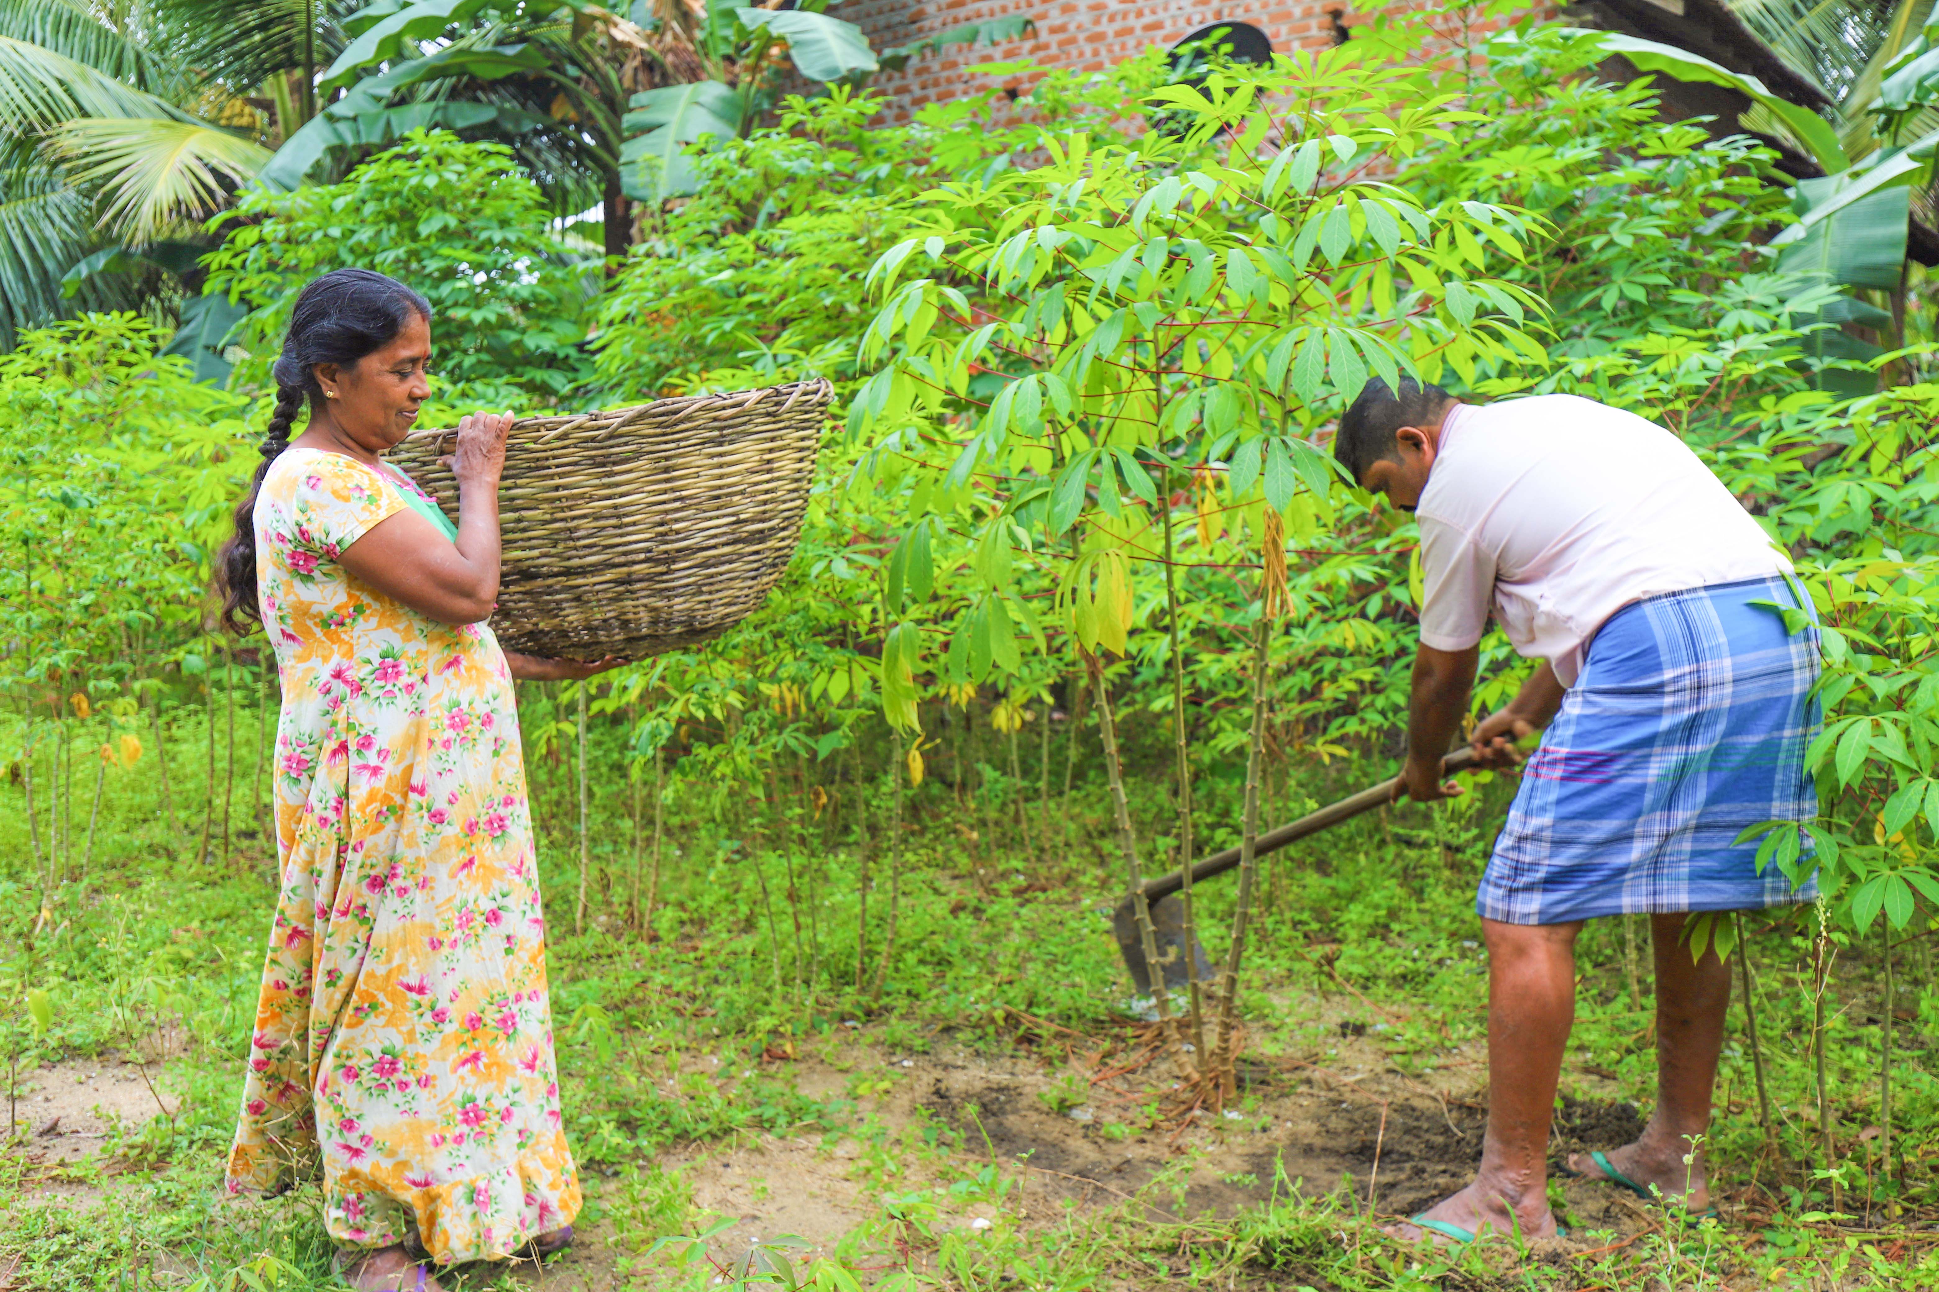
{"type": "Polygon", "coordinates": [[[262,622],[283,688],[283,885],[229,1187],[320,1158],[339,1271],[372,1292],[432,1292],[417,1253],[570,1242],[580,1185],[512,678],[613,666],[502,653],[483,622],[510,415],[458,426],[456,529],[378,457],[430,395],[429,362],[411,289],[363,269],[304,287],[219,560],[225,620],[262,622]]]}

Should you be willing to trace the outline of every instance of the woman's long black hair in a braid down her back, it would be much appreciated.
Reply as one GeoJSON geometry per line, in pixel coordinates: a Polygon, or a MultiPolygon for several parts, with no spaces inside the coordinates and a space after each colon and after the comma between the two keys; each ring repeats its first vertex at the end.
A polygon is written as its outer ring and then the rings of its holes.
{"type": "Polygon", "coordinates": [[[316,364],[353,366],[365,354],[390,345],[411,320],[430,322],[430,304],[397,279],[370,269],[332,269],[297,294],[289,312],[283,353],[275,360],[275,411],[260,451],[262,465],[248,494],[237,504],[237,529],[215,556],[215,591],[221,593],[221,622],[238,637],[250,620],[262,622],[256,591],[256,494],[283,449],[304,403],[310,415],[324,401],[316,364]]]}

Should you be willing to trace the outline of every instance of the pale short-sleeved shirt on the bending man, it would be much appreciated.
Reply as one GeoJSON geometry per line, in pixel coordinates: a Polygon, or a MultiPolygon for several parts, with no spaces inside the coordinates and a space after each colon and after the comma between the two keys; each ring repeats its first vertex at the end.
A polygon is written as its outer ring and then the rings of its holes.
{"type": "Polygon", "coordinates": [[[1629,602],[1792,568],[1689,446],[1576,395],[1452,409],[1415,517],[1421,643],[1472,647],[1493,597],[1514,649],[1563,686],[1629,602]]]}

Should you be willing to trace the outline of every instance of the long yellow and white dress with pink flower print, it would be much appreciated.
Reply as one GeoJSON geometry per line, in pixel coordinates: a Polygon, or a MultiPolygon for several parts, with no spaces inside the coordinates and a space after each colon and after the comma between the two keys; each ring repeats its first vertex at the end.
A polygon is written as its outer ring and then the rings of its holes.
{"type": "Polygon", "coordinates": [[[295,447],[256,498],[283,883],[229,1187],[320,1158],[332,1238],[454,1263],[566,1224],[580,1184],[504,655],[337,564],[405,490],[295,447]]]}

